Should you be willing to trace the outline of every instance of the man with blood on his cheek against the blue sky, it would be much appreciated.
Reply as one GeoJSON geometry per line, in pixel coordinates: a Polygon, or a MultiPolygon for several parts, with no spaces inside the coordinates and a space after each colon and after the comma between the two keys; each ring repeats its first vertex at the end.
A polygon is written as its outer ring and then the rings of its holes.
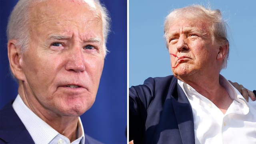
{"type": "Polygon", "coordinates": [[[176,9],[166,17],[164,35],[174,75],[130,88],[129,140],[255,144],[256,101],[247,102],[220,75],[229,52],[220,10],[199,5],[176,9]]]}

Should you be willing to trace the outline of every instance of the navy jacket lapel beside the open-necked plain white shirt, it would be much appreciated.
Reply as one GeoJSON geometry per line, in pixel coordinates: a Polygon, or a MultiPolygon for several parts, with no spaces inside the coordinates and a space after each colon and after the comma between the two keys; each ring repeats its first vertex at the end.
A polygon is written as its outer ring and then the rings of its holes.
{"type": "Polygon", "coordinates": [[[182,88],[175,83],[172,89],[172,104],[183,144],[194,144],[194,119],[192,108],[182,88]]]}

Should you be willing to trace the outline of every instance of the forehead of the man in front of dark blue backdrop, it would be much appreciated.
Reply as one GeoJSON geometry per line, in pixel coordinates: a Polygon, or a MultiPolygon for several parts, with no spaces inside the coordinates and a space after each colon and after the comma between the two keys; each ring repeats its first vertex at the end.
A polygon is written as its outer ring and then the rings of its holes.
{"type": "Polygon", "coordinates": [[[98,18],[101,20],[100,10],[94,0],[42,0],[31,5],[32,22],[44,22],[48,19],[66,19],[81,17],[81,21],[98,18]]]}

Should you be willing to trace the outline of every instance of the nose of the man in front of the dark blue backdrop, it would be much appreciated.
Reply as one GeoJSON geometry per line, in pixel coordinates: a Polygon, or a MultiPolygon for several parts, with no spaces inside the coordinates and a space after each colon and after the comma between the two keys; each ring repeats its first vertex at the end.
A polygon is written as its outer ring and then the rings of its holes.
{"type": "Polygon", "coordinates": [[[82,72],[85,70],[85,58],[80,46],[73,46],[68,50],[66,70],[74,72],[82,72]]]}

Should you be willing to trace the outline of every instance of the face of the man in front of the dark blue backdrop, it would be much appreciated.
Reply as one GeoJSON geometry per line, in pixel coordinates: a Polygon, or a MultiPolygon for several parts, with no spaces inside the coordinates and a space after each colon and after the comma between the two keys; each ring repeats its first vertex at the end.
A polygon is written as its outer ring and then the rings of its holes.
{"type": "Polygon", "coordinates": [[[21,57],[26,99],[37,112],[79,116],[94,103],[104,65],[100,12],[72,0],[48,0],[32,11],[21,57]]]}

